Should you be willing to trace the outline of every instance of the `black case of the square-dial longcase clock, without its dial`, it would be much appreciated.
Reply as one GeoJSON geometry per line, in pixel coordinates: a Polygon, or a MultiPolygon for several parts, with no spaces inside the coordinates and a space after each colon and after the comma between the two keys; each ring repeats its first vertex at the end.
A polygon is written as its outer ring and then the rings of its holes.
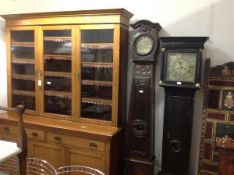
{"type": "Polygon", "coordinates": [[[200,88],[202,50],[208,37],[160,38],[162,53],[161,81],[165,90],[162,165],[158,175],[188,175],[192,139],[194,96],[200,88]],[[167,53],[197,53],[195,82],[165,81],[167,53]],[[196,85],[198,84],[198,85],[196,85]]]}

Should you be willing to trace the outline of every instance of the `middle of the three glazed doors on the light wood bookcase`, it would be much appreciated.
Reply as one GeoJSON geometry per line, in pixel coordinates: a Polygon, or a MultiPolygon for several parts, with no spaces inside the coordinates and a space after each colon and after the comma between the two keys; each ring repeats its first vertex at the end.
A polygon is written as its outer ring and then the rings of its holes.
{"type": "Polygon", "coordinates": [[[42,28],[42,116],[72,120],[74,27],[42,28]]]}

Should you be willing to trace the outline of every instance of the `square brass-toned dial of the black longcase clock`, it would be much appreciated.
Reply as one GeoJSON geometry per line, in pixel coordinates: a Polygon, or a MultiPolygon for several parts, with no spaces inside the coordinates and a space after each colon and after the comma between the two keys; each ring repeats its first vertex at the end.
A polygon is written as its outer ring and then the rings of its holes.
{"type": "Polygon", "coordinates": [[[194,82],[196,58],[196,53],[168,53],[166,80],[194,82]]]}

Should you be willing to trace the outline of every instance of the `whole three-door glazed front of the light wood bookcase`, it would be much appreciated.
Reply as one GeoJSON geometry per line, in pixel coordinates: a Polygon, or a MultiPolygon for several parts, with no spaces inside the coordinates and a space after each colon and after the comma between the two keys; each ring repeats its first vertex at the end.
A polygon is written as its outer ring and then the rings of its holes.
{"type": "Polygon", "coordinates": [[[7,36],[9,106],[118,125],[120,25],[15,27],[7,36]]]}

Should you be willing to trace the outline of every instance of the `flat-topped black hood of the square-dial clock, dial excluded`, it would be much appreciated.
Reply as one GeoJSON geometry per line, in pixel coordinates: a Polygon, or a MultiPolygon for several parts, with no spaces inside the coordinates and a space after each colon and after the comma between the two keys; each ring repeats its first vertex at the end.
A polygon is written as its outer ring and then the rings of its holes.
{"type": "Polygon", "coordinates": [[[184,88],[201,87],[201,68],[202,68],[202,50],[204,49],[204,42],[207,37],[161,37],[161,86],[176,86],[184,88]],[[168,81],[167,77],[167,63],[169,53],[194,53],[196,54],[196,68],[193,82],[185,81],[168,81]]]}

